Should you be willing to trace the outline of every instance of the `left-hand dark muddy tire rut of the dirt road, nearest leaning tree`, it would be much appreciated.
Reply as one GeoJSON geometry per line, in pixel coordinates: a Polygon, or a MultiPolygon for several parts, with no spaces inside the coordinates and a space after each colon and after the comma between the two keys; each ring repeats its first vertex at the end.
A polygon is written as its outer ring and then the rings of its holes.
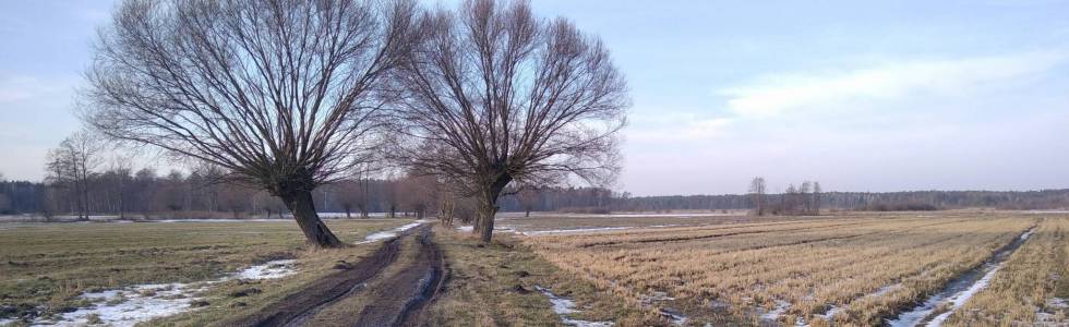
{"type": "Polygon", "coordinates": [[[393,264],[400,252],[401,234],[383,242],[371,256],[351,268],[331,274],[301,288],[299,292],[264,307],[260,312],[224,325],[226,326],[302,326],[320,310],[360,291],[364,282],[393,264]]]}

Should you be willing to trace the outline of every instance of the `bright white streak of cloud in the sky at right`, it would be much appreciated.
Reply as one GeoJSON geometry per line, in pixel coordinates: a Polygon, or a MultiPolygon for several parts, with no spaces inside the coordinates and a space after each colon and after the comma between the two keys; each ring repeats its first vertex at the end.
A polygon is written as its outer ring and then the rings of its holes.
{"type": "Polygon", "coordinates": [[[728,97],[728,109],[738,117],[771,118],[800,108],[894,100],[922,92],[965,94],[980,85],[1043,73],[1067,60],[1065,52],[1029,52],[912,61],[831,74],[776,74],[719,94],[728,97]]]}

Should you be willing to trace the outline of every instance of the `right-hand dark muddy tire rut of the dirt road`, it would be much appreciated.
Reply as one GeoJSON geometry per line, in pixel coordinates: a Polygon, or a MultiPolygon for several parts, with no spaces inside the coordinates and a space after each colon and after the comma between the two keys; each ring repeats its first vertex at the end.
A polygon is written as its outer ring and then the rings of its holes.
{"type": "Polygon", "coordinates": [[[445,282],[445,258],[431,228],[419,231],[416,261],[368,290],[379,295],[360,312],[356,326],[418,326],[423,308],[445,282]]]}

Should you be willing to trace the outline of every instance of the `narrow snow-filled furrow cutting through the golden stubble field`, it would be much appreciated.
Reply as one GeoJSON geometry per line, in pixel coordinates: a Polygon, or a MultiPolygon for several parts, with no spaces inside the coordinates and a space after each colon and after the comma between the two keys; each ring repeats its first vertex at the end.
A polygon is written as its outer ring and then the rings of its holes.
{"type": "Polygon", "coordinates": [[[1013,251],[1017,251],[1035,231],[1035,227],[1029,229],[1021,237],[995,253],[981,267],[965,271],[960,277],[951,280],[942,291],[929,296],[921,305],[900,314],[896,319],[888,320],[891,327],[913,327],[913,326],[942,326],[942,322],[950,317],[965,302],[969,302],[976,292],[980,292],[990,283],[992,278],[1002,267],[1013,251]],[[939,311],[940,308],[946,311],[939,311]]]}

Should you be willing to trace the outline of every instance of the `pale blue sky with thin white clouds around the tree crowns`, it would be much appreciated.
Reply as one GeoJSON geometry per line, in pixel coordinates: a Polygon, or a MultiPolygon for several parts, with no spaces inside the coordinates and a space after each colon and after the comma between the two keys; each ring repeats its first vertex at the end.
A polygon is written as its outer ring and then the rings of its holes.
{"type": "MultiPolygon", "coordinates": [[[[634,106],[615,189],[1069,187],[1069,1],[539,1],[634,106]]],[[[0,173],[40,180],[110,1],[0,1],[0,173]]]]}

